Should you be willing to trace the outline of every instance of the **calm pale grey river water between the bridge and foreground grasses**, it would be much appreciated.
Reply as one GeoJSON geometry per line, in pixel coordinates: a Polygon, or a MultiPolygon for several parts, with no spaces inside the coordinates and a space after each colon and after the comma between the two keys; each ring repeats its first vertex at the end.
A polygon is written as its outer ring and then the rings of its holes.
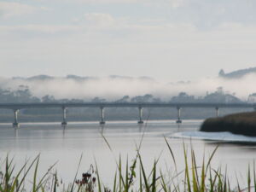
{"type": "MultiPolygon", "coordinates": [[[[98,122],[73,123],[62,128],[58,124],[22,124],[19,129],[13,129],[9,124],[0,125],[0,156],[6,154],[15,157],[15,163],[20,166],[27,159],[41,154],[40,170],[47,168],[58,161],[55,168],[64,181],[72,181],[79,158],[83,154],[80,173],[86,172],[90,164],[98,165],[104,183],[112,183],[113,173],[116,170],[115,160],[119,154],[124,159],[131,160],[136,155],[136,146],[143,137],[141,154],[144,166],[151,168],[154,159],[160,157],[159,168],[173,171],[172,158],[166,147],[164,135],[176,156],[179,170],[183,167],[183,142],[186,146],[193,145],[198,163],[202,156],[212,152],[219,142],[208,139],[241,140],[247,137],[236,137],[227,133],[204,134],[198,132],[201,120],[183,120],[178,127],[173,121],[150,121],[147,125],[139,126],[136,122],[107,122],[104,127],[98,122]],[[107,138],[112,151],[104,141],[102,134],[107,138]],[[183,138],[184,137],[184,138],[183,138]],[[205,140],[207,139],[207,140],[205,140]],[[95,160],[94,160],[95,159],[95,160]]],[[[256,141],[256,140],[255,140],[256,141]]],[[[237,144],[221,142],[215,155],[212,166],[228,166],[231,179],[236,175],[241,179],[246,175],[248,163],[256,158],[256,148],[253,144],[237,144]]],[[[242,182],[242,181],[241,181],[242,182]]]]}

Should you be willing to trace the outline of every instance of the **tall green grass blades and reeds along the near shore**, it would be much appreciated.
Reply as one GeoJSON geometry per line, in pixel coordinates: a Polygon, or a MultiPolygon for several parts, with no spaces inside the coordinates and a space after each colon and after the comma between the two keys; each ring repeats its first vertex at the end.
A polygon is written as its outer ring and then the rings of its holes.
{"type": "MultiPolygon", "coordinates": [[[[165,138],[166,140],[166,138],[165,138]]],[[[109,147],[110,148],[110,147],[109,147]]],[[[14,160],[9,157],[1,164],[0,169],[0,191],[1,192],[231,192],[231,191],[253,191],[256,186],[255,168],[248,167],[247,187],[241,189],[237,180],[236,186],[230,186],[227,171],[212,169],[211,160],[217,148],[207,160],[205,158],[199,165],[195,160],[193,148],[187,150],[183,146],[184,167],[177,171],[177,162],[172,148],[166,140],[166,148],[170,151],[170,166],[174,170],[174,175],[166,177],[166,172],[157,168],[158,160],[154,160],[151,172],[146,172],[143,160],[137,148],[137,156],[129,165],[128,160],[122,166],[121,158],[116,160],[117,170],[113,177],[113,186],[107,187],[102,183],[99,170],[95,165],[90,166],[88,172],[84,172],[82,177],[78,176],[78,171],[72,183],[68,185],[59,181],[54,166],[50,166],[43,177],[38,177],[38,165],[40,156],[38,155],[32,162],[26,162],[20,170],[15,170],[14,160]],[[124,168],[125,167],[125,168],[124,168]],[[124,169],[124,170],[123,170],[124,169]],[[28,178],[28,173],[33,172],[33,177],[28,178]],[[182,179],[181,179],[182,178],[182,179]]],[[[79,161],[79,166],[81,164],[79,161]]],[[[79,167],[78,167],[79,170],[79,167]]]]}

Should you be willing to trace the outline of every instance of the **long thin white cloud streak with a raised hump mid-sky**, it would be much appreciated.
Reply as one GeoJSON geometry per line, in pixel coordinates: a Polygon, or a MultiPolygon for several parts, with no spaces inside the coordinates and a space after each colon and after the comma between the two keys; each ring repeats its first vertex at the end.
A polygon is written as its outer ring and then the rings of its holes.
{"type": "Polygon", "coordinates": [[[76,20],[73,25],[44,25],[44,24],[26,24],[26,25],[2,25],[0,32],[15,32],[16,34],[26,32],[42,33],[86,33],[86,32],[145,32],[159,31],[176,26],[170,25],[166,20],[131,20],[129,18],[115,18],[112,15],[104,13],[87,13],[84,19],[76,20]]]}

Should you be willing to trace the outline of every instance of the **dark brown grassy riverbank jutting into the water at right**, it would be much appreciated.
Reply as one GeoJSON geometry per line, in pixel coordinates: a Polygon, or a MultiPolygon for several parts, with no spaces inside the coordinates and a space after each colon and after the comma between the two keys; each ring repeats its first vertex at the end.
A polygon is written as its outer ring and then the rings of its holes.
{"type": "Polygon", "coordinates": [[[229,131],[249,137],[256,137],[256,112],[236,113],[219,118],[206,119],[200,131],[229,131]]]}

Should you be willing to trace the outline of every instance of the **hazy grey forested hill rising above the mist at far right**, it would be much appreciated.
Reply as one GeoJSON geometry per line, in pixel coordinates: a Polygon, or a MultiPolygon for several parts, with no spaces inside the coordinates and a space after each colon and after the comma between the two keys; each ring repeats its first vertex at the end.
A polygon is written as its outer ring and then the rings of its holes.
{"type": "Polygon", "coordinates": [[[239,79],[247,74],[256,74],[256,67],[240,69],[231,73],[224,73],[224,70],[221,69],[218,73],[218,77],[225,78],[225,79],[239,79]]]}

